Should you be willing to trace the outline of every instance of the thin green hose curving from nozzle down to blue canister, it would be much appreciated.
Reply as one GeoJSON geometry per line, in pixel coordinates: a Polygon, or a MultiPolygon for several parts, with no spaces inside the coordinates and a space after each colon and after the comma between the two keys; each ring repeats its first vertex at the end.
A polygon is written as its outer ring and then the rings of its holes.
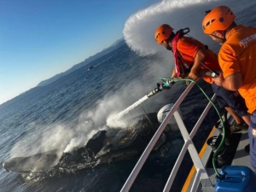
{"type": "Polygon", "coordinates": [[[218,145],[218,148],[217,148],[215,151],[213,151],[214,154],[213,154],[213,158],[212,158],[212,166],[213,166],[213,169],[214,169],[216,175],[217,175],[218,177],[220,177],[220,174],[218,173],[218,170],[217,170],[216,165],[215,165],[215,161],[216,161],[216,157],[217,157],[217,154],[218,154],[219,149],[222,148],[222,146],[224,145],[225,127],[224,127],[224,120],[223,120],[222,117],[220,116],[220,113],[219,113],[219,111],[218,111],[218,108],[214,105],[214,103],[212,102],[212,100],[207,96],[206,92],[205,92],[204,90],[202,90],[201,86],[195,82],[195,80],[193,80],[193,79],[176,79],[176,78],[175,78],[175,79],[160,78],[160,79],[161,79],[162,81],[171,80],[171,81],[174,81],[174,82],[177,82],[177,81],[190,81],[190,82],[193,82],[194,84],[196,84],[196,85],[199,87],[199,89],[201,90],[201,92],[207,97],[208,101],[212,103],[212,106],[213,106],[213,108],[215,108],[216,112],[218,113],[218,117],[219,117],[219,119],[220,119],[220,121],[221,121],[221,123],[222,123],[222,125],[223,125],[223,137],[222,137],[222,139],[221,139],[221,142],[220,142],[219,145],[218,145]]]}

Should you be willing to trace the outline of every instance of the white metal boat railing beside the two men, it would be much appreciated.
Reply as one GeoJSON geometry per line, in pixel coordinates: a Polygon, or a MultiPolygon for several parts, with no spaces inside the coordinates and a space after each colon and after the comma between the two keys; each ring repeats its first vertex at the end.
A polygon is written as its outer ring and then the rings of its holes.
{"type": "MultiPolygon", "coordinates": [[[[193,182],[193,185],[192,185],[192,188],[191,188],[190,191],[193,191],[193,192],[196,191],[200,182],[201,182],[202,187],[204,189],[212,189],[212,183],[211,183],[211,181],[208,177],[207,171],[206,171],[205,167],[203,166],[203,164],[201,162],[201,159],[199,157],[199,154],[197,153],[195,145],[192,141],[192,138],[195,136],[196,131],[198,131],[203,119],[205,119],[209,109],[212,107],[212,104],[211,104],[211,102],[209,102],[207,104],[207,107],[205,108],[205,110],[201,114],[201,117],[196,122],[196,124],[195,124],[193,130],[190,132],[190,134],[187,131],[187,128],[183,123],[183,119],[181,117],[181,114],[177,110],[177,108],[180,106],[181,102],[183,102],[184,98],[189,94],[189,91],[192,89],[192,87],[194,85],[195,85],[194,83],[189,84],[187,89],[184,90],[183,94],[178,98],[177,102],[174,104],[174,106],[172,107],[170,112],[166,115],[166,118],[163,120],[163,122],[161,123],[158,130],[154,133],[154,137],[152,137],[152,139],[148,143],[147,148],[144,150],[142,156],[137,161],[137,165],[133,168],[130,176],[127,178],[123,188],[120,190],[121,192],[129,191],[129,189],[131,188],[132,183],[134,182],[135,178],[137,177],[137,174],[140,172],[141,168],[143,167],[143,164],[145,163],[145,161],[148,158],[148,155],[150,154],[150,152],[154,148],[154,145],[158,141],[161,133],[165,130],[166,125],[168,124],[168,122],[172,118],[173,114],[174,114],[174,118],[177,121],[177,125],[179,127],[179,130],[182,133],[182,136],[183,136],[183,139],[184,139],[184,144],[183,144],[183,148],[182,148],[180,154],[177,157],[176,163],[172,168],[172,172],[171,172],[170,177],[168,178],[168,180],[166,182],[166,186],[163,189],[163,191],[165,191],[165,192],[170,191],[170,189],[172,187],[172,183],[174,181],[174,178],[176,177],[177,171],[179,169],[179,166],[181,165],[181,162],[183,160],[183,157],[184,157],[185,153],[187,152],[187,149],[189,150],[189,154],[191,156],[191,159],[193,160],[193,163],[195,165],[195,170],[196,170],[195,179],[194,179],[194,182],[193,182]]],[[[212,101],[214,101],[215,98],[216,98],[216,96],[213,95],[212,96],[212,101]]]]}

